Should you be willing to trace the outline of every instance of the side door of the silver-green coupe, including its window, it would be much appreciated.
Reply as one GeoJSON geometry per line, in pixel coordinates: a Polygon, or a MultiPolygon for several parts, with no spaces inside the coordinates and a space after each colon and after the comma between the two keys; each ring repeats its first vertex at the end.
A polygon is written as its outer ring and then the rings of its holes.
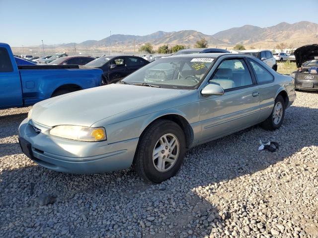
{"type": "Polygon", "coordinates": [[[258,122],[259,92],[250,66],[242,58],[223,60],[209,83],[218,84],[224,95],[201,97],[201,143],[231,134],[258,122]]]}

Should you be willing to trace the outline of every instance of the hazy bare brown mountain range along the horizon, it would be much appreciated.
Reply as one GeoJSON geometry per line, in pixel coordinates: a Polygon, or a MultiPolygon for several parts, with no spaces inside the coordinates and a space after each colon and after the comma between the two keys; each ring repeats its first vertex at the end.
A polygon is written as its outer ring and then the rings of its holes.
{"type": "Polygon", "coordinates": [[[244,25],[234,27],[225,31],[220,31],[214,35],[206,35],[195,30],[182,30],[173,32],[157,31],[150,35],[124,35],[116,34],[101,40],[87,40],[81,43],[68,43],[45,46],[45,48],[74,48],[77,49],[105,49],[109,47],[111,41],[112,48],[131,48],[135,40],[135,45],[151,43],[154,48],[162,44],[184,44],[193,47],[197,40],[205,38],[210,47],[220,46],[231,48],[236,44],[253,46],[256,48],[273,48],[278,43],[285,43],[288,46],[299,47],[305,44],[318,42],[318,24],[301,21],[294,24],[287,22],[279,23],[270,27],[258,27],[244,25]]]}

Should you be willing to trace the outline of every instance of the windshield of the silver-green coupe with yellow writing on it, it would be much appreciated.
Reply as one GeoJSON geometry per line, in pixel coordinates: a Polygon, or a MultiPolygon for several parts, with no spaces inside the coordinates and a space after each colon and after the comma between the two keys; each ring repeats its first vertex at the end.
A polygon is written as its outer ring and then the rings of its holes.
{"type": "Polygon", "coordinates": [[[130,74],[122,81],[129,84],[152,84],[165,88],[195,88],[208,72],[214,58],[163,58],[130,74]]]}

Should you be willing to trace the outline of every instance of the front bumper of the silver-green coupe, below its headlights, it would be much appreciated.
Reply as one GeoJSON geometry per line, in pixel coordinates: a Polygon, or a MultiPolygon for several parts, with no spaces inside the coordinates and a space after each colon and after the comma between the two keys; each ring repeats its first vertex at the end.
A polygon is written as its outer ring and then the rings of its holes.
{"type": "Polygon", "coordinates": [[[129,168],[138,138],[107,144],[82,142],[37,133],[24,119],[19,126],[19,143],[23,153],[35,163],[58,172],[99,174],[129,168]]]}

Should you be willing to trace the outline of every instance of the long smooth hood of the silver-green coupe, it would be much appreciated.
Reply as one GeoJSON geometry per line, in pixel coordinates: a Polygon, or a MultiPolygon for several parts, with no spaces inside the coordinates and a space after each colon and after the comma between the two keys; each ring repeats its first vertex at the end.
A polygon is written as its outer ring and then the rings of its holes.
{"type": "MultiPolygon", "coordinates": [[[[44,100],[33,106],[31,119],[46,126],[91,126],[106,119],[188,90],[110,84],[44,100]]],[[[136,115],[137,116],[137,115],[136,115]]]]}

